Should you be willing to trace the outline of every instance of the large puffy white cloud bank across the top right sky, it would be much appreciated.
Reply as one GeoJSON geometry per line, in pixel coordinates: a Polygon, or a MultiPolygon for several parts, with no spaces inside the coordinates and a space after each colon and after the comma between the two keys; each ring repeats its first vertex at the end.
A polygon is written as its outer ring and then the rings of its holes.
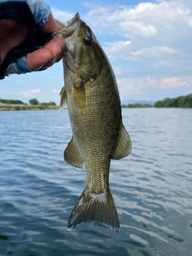
{"type": "Polygon", "coordinates": [[[100,34],[153,37],[165,27],[172,29],[181,23],[192,26],[190,9],[182,1],[140,3],[134,8],[117,5],[115,8],[103,7],[90,3],[84,4],[84,7],[88,12],[82,18],[100,34]]]}

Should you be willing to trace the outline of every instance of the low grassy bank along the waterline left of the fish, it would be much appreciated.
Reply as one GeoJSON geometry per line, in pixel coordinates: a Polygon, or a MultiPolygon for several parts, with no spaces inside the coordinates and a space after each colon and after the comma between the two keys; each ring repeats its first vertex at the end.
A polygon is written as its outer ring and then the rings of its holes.
{"type": "Polygon", "coordinates": [[[58,110],[59,106],[39,106],[39,105],[25,105],[25,104],[1,104],[0,111],[8,110],[58,110]]]}

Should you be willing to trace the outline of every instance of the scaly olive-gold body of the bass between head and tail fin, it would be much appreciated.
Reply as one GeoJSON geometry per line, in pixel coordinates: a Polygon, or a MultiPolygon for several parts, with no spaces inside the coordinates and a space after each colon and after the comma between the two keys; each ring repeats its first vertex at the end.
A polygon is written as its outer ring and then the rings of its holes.
{"type": "MultiPolygon", "coordinates": [[[[82,108],[74,100],[79,92],[73,87],[71,90],[68,80],[65,83],[73,137],[86,166],[86,188],[92,194],[101,194],[109,186],[109,167],[121,122],[118,113],[120,102],[117,102],[115,87],[111,86],[114,79],[111,72],[107,72],[108,63],[105,59],[103,61],[105,65],[101,75],[84,86],[82,93],[86,97],[82,108]],[[105,75],[102,76],[102,73],[105,75]]],[[[74,73],[71,72],[71,75],[74,76],[74,73]]]]}

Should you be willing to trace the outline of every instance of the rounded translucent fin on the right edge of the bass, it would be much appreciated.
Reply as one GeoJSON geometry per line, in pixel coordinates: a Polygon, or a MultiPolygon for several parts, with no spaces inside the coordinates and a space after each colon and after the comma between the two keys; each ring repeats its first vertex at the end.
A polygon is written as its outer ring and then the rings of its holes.
{"type": "Polygon", "coordinates": [[[132,142],[131,142],[130,136],[125,130],[124,125],[121,123],[120,129],[119,129],[117,146],[112,159],[118,160],[123,157],[126,157],[131,153],[131,151],[132,151],[132,142]]]}

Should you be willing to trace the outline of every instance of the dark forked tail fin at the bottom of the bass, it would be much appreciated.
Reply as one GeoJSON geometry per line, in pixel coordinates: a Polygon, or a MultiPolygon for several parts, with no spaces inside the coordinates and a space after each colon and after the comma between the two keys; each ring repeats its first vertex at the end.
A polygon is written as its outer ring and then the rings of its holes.
{"type": "Polygon", "coordinates": [[[100,195],[90,194],[85,188],[68,221],[68,230],[90,221],[97,221],[112,231],[120,233],[117,210],[110,189],[100,195]]]}

